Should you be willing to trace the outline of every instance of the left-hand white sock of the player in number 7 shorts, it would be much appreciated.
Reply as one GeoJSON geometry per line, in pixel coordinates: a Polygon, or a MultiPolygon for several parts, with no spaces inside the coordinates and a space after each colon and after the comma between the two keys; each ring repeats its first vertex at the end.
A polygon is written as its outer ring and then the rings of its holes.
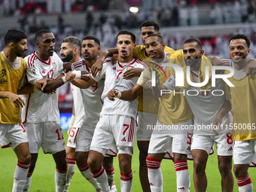
{"type": "Polygon", "coordinates": [[[108,176],[103,166],[100,166],[99,169],[96,170],[96,172],[91,173],[93,175],[93,178],[99,185],[99,188],[104,192],[110,192],[110,189],[108,187],[108,176]]]}

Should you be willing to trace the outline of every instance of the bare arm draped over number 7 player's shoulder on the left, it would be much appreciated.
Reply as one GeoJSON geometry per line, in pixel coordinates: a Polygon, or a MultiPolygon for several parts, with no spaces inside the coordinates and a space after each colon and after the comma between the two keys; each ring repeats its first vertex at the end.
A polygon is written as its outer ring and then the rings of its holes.
{"type": "Polygon", "coordinates": [[[97,59],[97,61],[93,64],[91,72],[93,77],[96,76],[96,74],[99,72],[102,72],[102,66],[103,66],[103,62],[105,59],[107,59],[108,56],[113,56],[114,54],[117,54],[118,50],[117,49],[107,49],[107,50],[103,50],[102,53],[99,54],[99,58],[97,59]]]}

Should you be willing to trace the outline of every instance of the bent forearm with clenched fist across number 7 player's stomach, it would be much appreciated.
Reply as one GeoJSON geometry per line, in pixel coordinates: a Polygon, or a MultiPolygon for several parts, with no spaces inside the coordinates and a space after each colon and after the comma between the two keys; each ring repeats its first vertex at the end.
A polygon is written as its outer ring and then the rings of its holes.
{"type": "Polygon", "coordinates": [[[114,98],[122,99],[125,101],[133,101],[143,92],[143,87],[139,84],[135,84],[131,90],[118,91],[110,90],[108,92],[108,99],[114,101],[114,98]]]}

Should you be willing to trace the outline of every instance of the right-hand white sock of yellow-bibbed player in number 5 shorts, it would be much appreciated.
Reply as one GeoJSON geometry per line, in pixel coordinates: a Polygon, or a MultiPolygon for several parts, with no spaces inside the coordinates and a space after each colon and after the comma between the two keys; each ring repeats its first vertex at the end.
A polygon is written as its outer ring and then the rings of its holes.
{"type": "Polygon", "coordinates": [[[174,162],[176,170],[177,191],[190,191],[190,175],[187,169],[187,160],[177,160],[174,162]]]}

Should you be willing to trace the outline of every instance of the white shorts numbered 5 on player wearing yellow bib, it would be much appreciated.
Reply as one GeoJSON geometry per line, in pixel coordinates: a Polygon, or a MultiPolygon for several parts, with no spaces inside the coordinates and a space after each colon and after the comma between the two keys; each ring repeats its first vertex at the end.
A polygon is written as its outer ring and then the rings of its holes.
{"type": "MultiPolygon", "coordinates": [[[[157,125],[160,125],[157,120],[157,125]]],[[[181,128],[183,125],[192,124],[192,120],[187,120],[184,123],[177,125],[181,128]]],[[[168,133],[159,133],[159,130],[154,130],[149,142],[148,154],[167,153],[172,156],[172,153],[178,154],[191,154],[190,145],[193,130],[184,130],[183,134],[175,134],[175,130],[168,130],[168,133]]]]}

